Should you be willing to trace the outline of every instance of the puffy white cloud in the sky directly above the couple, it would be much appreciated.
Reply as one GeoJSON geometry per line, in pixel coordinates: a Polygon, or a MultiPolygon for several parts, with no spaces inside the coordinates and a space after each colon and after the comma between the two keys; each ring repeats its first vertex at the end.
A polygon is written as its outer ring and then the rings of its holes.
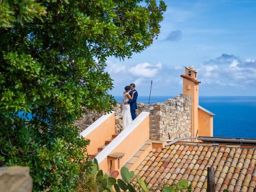
{"type": "Polygon", "coordinates": [[[134,76],[145,77],[145,78],[152,78],[156,76],[156,73],[162,69],[162,63],[159,62],[158,64],[150,64],[150,63],[139,63],[134,67],[129,69],[129,72],[132,73],[134,76]]]}

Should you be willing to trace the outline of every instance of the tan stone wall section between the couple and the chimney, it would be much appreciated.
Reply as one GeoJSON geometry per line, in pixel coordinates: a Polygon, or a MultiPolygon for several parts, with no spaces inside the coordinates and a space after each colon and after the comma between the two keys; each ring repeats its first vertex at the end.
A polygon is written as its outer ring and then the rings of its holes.
{"type": "Polygon", "coordinates": [[[191,97],[180,94],[162,103],[138,104],[138,114],[150,112],[150,139],[191,136],[191,97]]]}

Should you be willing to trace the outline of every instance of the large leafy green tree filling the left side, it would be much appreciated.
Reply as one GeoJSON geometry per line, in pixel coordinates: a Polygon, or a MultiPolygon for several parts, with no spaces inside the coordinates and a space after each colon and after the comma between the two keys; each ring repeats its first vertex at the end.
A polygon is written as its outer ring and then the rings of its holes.
{"type": "Polygon", "coordinates": [[[152,44],[155,0],[0,1],[0,166],[30,166],[34,191],[72,191],[88,141],[74,121],[116,103],[104,72],[152,44]],[[28,115],[32,118],[27,119],[28,115]]]}

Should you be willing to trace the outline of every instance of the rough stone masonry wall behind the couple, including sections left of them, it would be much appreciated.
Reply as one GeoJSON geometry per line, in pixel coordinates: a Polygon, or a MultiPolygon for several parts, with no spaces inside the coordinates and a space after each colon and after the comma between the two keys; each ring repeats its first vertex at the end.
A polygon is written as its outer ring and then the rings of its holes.
{"type": "MultiPolygon", "coordinates": [[[[116,134],[118,134],[122,131],[122,105],[118,104],[114,111],[116,134]]],[[[138,103],[137,116],[142,111],[150,112],[150,139],[169,136],[171,139],[177,139],[191,136],[191,97],[189,95],[180,94],[161,103],[138,103]]],[[[82,132],[100,116],[102,114],[90,111],[82,120],[77,121],[76,125],[82,132]]]]}

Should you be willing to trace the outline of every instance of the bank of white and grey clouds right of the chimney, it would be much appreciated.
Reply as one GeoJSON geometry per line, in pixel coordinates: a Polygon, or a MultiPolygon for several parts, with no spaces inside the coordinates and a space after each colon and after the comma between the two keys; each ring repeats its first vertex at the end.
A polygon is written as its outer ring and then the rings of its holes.
{"type": "Polygon", "coordinates": [[[256,84],[256,65],[251,59],[241,60],[234,55],[222,56],[200,64],[198,78],[202,84],[226,87],[246,87],[256,84]]]}

